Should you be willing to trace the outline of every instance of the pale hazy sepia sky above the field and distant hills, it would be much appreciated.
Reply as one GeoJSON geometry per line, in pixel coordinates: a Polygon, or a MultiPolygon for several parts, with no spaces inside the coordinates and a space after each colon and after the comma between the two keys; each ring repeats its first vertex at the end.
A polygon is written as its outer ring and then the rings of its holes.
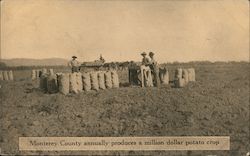
{"type": "Polygon", "coordinates": [[[248,0],[3,0],[1,55],[249,61],[248,0]]]}

